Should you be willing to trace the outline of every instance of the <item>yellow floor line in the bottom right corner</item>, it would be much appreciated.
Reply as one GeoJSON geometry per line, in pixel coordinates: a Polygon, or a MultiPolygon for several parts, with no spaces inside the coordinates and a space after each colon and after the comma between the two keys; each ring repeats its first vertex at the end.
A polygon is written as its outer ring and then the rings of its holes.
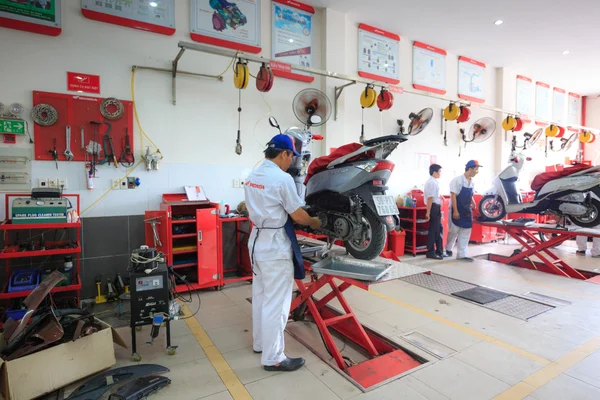
{"type": "Polygon", "coordinates": [[[600,336],[567,353],[535,374],[529,375],[523,381],[494,397],[493,400],[524,399],[598,350],[600,350],[600,336]]]}

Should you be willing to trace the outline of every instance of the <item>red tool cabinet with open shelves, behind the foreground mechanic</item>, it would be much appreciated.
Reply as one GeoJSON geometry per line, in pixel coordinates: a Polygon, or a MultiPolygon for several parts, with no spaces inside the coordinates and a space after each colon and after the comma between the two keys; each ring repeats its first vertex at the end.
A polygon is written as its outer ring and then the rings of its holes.
{"type": "Polygon", "coordinates": [[[218,204],[189,201],[185,193],[164,194],[162,198],[160,210],[145,213],[146,245],[162,251],[167,265],[172,265],[188,281],[189,288],[178,282],[178,292],[220,288],[227,283],[252,279],[248,250],[241,245],[242,236],[248,234],[241,230],[247,218],[220,218],[218,204]],[[236,223],[238,266],[225,270],[222,233],[223,224],[228,222],[236,223]]]}

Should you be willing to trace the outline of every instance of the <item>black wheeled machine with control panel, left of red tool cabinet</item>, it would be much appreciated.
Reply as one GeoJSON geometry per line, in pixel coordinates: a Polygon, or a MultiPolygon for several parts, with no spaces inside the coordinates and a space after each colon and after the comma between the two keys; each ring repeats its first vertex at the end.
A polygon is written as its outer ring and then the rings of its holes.
{"type": "Polygon", "coordinates": [[[131,286],[131,352],[134,361],[141,361],[137,353],[136,331],[144,325],[152,325],[152,344],[163,323],[167,328],[167,354],[173,355],[177,346],[171,346],[169,272],[164,256],[156,249],[142,246],[131,254],[129,278],[131,286]]]}

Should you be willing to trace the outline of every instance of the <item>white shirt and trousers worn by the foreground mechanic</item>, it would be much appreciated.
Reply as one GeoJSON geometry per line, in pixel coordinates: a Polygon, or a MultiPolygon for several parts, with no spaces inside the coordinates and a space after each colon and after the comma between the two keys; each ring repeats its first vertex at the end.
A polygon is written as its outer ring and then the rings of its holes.
{"type": "Polygon", "coordinates": [[[244,194],[254,224],[248,241],[255,274],[252,282],[253,348],[262,351],[262,365],[271,366],[286,359],[283,332],[294,284],[292,243],[283,226],[288,215],[302,207],[304,201],[298,196],[291,175],[269,160],[248,176],[244,194]]]}

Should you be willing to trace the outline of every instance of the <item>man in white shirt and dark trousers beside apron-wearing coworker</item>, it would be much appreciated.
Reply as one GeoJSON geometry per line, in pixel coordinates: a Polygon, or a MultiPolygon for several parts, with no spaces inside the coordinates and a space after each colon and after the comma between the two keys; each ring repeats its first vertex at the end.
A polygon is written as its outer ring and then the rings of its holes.
{"type": "Polygon", "coordinates": [[[429,166],[430,178],[425,183],[423,196],[427,205],[426,219],[429,221],[427,233],[427,258],[441,260],[444,258],[444,247],[442,241],[442,200],[440,198],[440,183],[438,179],[442,174],[442,167],[438,164],[429,166]]]}

